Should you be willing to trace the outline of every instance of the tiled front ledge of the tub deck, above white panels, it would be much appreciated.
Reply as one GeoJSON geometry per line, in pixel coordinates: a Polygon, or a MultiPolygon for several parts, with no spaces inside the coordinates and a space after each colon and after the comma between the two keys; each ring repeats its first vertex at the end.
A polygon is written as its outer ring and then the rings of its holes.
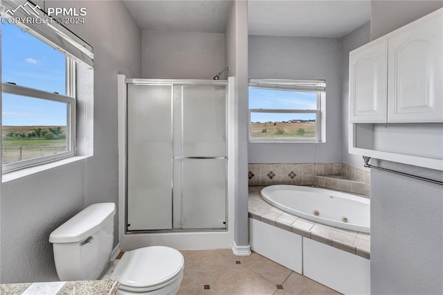
{"type": "Polygon", "coordinates": [[[370,259],[370,234],[338,229],[292,215],[268,204],[260,196],[264,186],[249,186],[249,217],[343,251],[370,259]]]}

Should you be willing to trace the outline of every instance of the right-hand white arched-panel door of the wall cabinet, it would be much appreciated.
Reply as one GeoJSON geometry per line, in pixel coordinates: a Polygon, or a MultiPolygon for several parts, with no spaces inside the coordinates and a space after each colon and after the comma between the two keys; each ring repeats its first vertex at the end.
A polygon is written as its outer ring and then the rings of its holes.
{"type": "Polygon", "coordinates": [[[388,122],[442,122],[443,10],[388,38],[388,122]]]}

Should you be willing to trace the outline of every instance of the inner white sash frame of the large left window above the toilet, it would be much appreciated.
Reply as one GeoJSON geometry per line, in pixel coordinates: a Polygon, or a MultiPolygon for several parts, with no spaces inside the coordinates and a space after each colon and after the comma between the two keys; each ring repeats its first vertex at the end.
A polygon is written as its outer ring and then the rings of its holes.
{"type": "MultiPolygon", "coordinates": [[[[40,40],[43,42],[42,40],[40,40]]],[[[60,152],[57,154],[51,154],[47,156],[37,157],[33,159],[26,159],[22,161],[16,161],[11,163],[1,163],[2,174],[29,168],[33,166],[42,165],[45,163],[51,163],[53,161],[59,161],[69,157],[74,157],[75,150],[75,138],[76,138],[76,116],[77,116],[77,102],[75,99],[76,94],[76,82],[75,82],[75,61],[66,56],[66,96],[58,93],[51,93],[48,91],[34,89],[30,87],[24,87],[11,82],[1,83],[1,93],[8,93],[17,96],[26,96],[28,98],[38,98],[44,100],[51,100],[55,102],[65,102],[67,104],[66,109],[66,152],[60,152]]],[[[2,144],[3,149],[3,144],[2,144]]]]}

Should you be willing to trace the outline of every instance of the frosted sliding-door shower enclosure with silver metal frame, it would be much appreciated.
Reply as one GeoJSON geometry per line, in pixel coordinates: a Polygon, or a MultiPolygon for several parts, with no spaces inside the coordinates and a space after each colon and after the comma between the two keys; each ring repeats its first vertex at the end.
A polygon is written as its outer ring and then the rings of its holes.
{"type": "Polygon", "coordinates": [[[228,231],[228,81],[124,81],[123,235],[228,231]]]}

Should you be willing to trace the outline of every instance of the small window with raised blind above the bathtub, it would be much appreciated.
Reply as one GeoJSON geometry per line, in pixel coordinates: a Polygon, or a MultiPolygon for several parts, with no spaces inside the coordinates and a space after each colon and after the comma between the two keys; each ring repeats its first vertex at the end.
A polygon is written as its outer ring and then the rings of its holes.
{"type": "Polygon", "coordinates": [[[324,80],[249,80],[249,140],[322,141],[325,87],[324,80]]]}

